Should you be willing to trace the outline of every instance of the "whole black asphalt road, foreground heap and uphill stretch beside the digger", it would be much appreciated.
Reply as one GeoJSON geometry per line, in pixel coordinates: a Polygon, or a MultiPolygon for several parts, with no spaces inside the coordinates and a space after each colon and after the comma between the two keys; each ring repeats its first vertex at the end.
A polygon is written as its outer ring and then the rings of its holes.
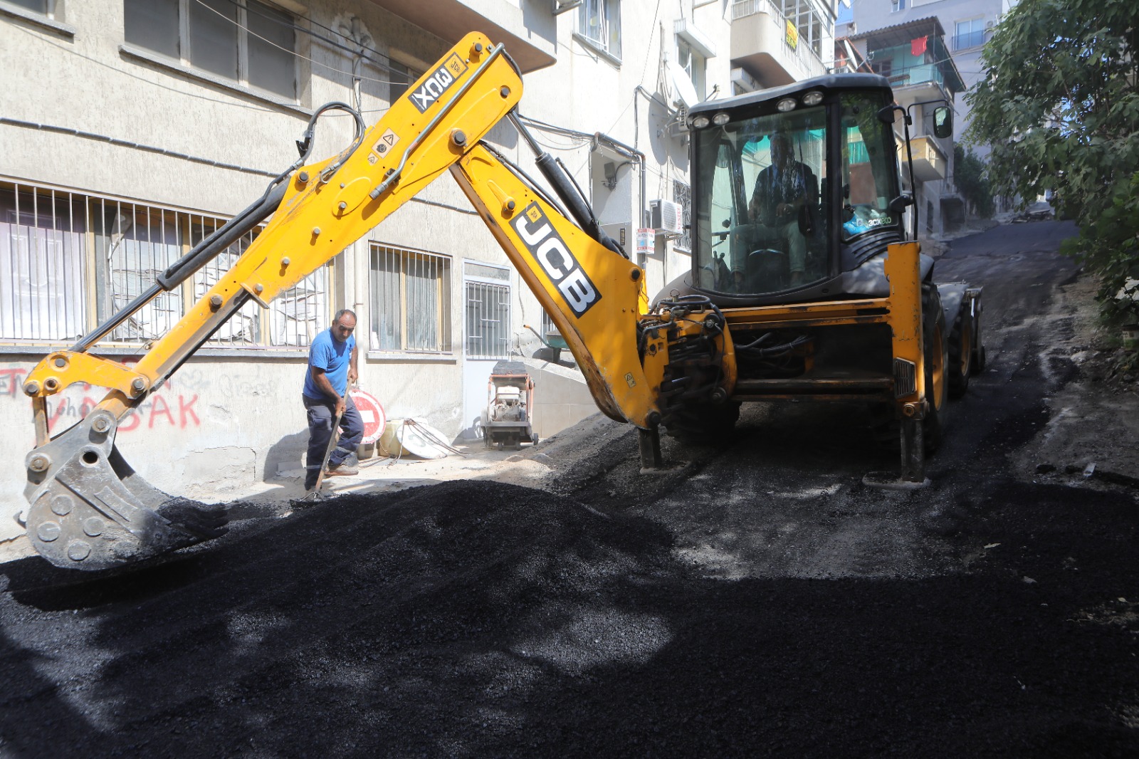
{"type": "MultiPolygon", "coordinates": [[[[917,492],[857,408],[584,425],[546,490],[345,496],[74,582],[0,568],[0,756],[1134,757],[1136,491],[1016,476],[1077,374],[1071,226],[958,240],[989,367],[917,492]]],[[[532,454],[533,455],[533,454],[532,454]]]]}

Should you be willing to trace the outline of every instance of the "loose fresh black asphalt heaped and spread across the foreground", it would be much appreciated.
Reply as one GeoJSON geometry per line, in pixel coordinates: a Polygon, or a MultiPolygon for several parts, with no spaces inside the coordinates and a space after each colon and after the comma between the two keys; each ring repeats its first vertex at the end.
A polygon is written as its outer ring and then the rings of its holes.
{"type": "Polygon", "coordinates": [[[1137,756],[1136,505],[1062,490],[1008,483],[959,536],[990,542],[920,579],[714,579],[650,509],[486,482],[114,577],[28,558],[0,586],[0,750],[1137,756]]]}

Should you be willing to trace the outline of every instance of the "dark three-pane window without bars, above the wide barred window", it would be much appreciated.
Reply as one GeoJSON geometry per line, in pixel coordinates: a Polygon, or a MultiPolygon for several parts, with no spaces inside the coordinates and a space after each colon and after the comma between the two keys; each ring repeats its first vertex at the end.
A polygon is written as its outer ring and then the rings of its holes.
{"type": "Polygon", "coordinates": [[[123,0],[124,39],[295,100],[296,18],[257,0],[123,0]]]}

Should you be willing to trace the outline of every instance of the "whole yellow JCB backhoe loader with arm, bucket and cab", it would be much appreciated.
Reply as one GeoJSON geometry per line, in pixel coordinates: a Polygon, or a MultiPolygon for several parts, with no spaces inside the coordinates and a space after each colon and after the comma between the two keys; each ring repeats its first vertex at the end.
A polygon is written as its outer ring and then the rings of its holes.
{"type": "MultiPolygon", "coordinates": [[[[191,507],[134,474],[115,448],[120,419],[245,303],[265,305],[445,170],[551,315],[598,407],[638,427],[644,466],[661,466],[662,424],[696,435],[734,423],[744,400],[858,397],[900,425],[902,481],[920,482],[923,434],[937,433],[952,370],[967,377],[961,351],[969,343],[959,341],[954,353],[932,266],[919,262],[916,243],[902,242],[904,196],[886,81],[833,76],[801,89],[693,111],[694,269],[650,309],[640,267],[604,234],[572,179],[518,120],[522,80],[502,46],[467,35],[370,129],[344,104],[322,107],[298,142],[302,157],[260,201],[28,375],[24,392],[36,433],[26,458],[32,544],[58,566],[100,570],[221,534],[222,512],[191,507]],[[351,113],[355,137],[339,155],[305,163],[314,124],[328,109],[351,113]],[[533,148],[554,195],[482,141],[502,119],[533,148]],[[782,225],[802,240],[772,239],[747,207],[746,182],[764,163],[764,140],[776,126],[802,131],[796,150],[821,178],[821,195],[803,198],[795,223],[782,225]],[[138,364],[91,352],[270,215],[230,271],[138,364]],[[947,366],[947,352],[958,357],[954,366],[947,366]],[[109,392],[49,439],[48,397],[81,382],[109,392]],[[934,402],[926,402],[927,389],[934,402]]],[[[958,317],[978,312],[976,293],[966,300],[969,309],[958,317]]],[[[970,316],[959,332],[975,335],[976,324],[970,316]]]]}

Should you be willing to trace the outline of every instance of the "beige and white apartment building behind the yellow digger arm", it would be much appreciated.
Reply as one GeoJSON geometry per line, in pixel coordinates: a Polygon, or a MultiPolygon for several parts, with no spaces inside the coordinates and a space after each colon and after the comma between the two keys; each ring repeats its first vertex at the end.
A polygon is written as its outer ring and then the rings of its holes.
{"type": "MultiPolygon", "coordinates": [[[[730,24],[727,5],[700,1],[0,0],[3,508],[22,499],[33,431],[21,386],[39,358],[90,333],[260,197],[322,104],[374,123],[468,31],[506,44],[524,73],[522,116],[659,288],[688,267],[687,240],[682,229],[645,231],[649,207],[686,207],[683,114],[727,92],[730,24]]],[[[329,112],[313,157],[352,133],[350,115],[329,112]]],[[[489,140],[530,165],[508,125],[489,140]]],[[[97,352],[137,359],[249,242],[159,294],[97,352]]],[[[493,364],[540,346],[524,325],[543,330],[536,300],[442,178],[214,334],[123,421],[126,460],[187,496],[240,495],[298,465],[306,345],[338,308],[359,317],[361,386],[388,417],[423,417],[453,438],[477,435],[493,364]]],[[[54,398],[52,429],[101,395],[54,398]]],[[[543,434],[592,410],[551,408],[543,434]]],[[[0,539],[18,532],[8,514],[0,539]]]]}

